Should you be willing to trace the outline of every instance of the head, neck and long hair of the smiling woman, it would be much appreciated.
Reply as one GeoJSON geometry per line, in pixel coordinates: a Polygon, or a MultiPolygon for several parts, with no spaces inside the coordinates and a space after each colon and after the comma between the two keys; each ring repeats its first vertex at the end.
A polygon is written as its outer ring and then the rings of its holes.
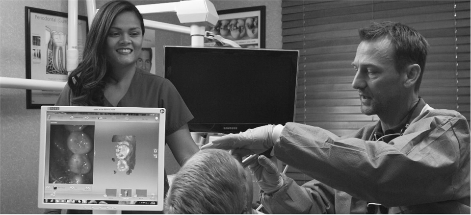
{"type": "Polygon", "coordinates": [[[111,1],[103,5],[90,26],[83,60],[68,80],[75,95],[73,103],[102,106],[106,98],[116,106],[131,84],[135,73],[132,64],[139,55],[144,33],[142,15],[133,4],[111,1]],[[106,95],[108,91],[118,87],[118,95],[107,97],[111,96],[106,95]]]}

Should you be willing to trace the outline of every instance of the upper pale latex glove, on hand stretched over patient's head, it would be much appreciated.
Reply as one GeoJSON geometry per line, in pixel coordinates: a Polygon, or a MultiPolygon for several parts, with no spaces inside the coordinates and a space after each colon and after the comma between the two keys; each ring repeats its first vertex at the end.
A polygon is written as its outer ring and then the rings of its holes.
{"type": "Polygon", "coordinates": [[[212,143],[203,145],[201,149],[247,149],[244,153],[240,153],[240,151],[238,153],[241,156],[260,154],[273,147],[283,127],[283,125],[264,125],[238,134],[228,134],[214,140],[212,143]]]}

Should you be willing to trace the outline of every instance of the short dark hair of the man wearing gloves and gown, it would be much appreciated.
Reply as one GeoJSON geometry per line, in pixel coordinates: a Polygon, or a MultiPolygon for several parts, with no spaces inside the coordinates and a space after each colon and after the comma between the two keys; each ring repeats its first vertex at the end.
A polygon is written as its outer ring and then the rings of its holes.
{"type": "Polygon", "coordinates": [[[362,41],[370,41],[383,36],[390,38],[397,71],[402,71],[409,64],[418,64],[421,71],[415,90],[419,91],[429,48],[427,40],[419,32],[405,24],[389,21],[372,22],[369,26],[359,29],[358,32],[362,41]]]}

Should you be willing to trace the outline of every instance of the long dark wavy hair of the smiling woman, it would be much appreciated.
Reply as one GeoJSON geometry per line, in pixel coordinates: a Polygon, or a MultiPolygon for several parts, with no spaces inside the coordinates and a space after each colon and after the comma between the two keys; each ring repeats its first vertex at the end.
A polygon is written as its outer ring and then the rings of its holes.
{"type": "Polygon", "coordinates": [[[129,1],[109,1],[95,15],[85,41],[82,61],[70,73],[67,81],[74,94],[72,105],[103,106],[104,77],[109,68],[105,55],[106,39],[116,16],[128,11],[136,14],[141,24],[142,35],[144,35],[142,15],[129,1]]]}

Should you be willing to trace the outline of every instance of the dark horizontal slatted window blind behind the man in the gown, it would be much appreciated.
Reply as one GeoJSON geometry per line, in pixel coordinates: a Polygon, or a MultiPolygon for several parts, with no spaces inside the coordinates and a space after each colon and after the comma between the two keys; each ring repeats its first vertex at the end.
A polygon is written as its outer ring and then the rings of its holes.
{"type": "MultiPolygon", "coordinates": [[[[379,119],[361,113],[352,88],[358,28],[371,21],[407,24],[427,38],[419,96],[470,121],[470,1],[284,0],[283,48],[300,51],[296,122],[342,136],[379,119]]],[[[311,180],[293,168],[287,174],[311,180]]]]}

